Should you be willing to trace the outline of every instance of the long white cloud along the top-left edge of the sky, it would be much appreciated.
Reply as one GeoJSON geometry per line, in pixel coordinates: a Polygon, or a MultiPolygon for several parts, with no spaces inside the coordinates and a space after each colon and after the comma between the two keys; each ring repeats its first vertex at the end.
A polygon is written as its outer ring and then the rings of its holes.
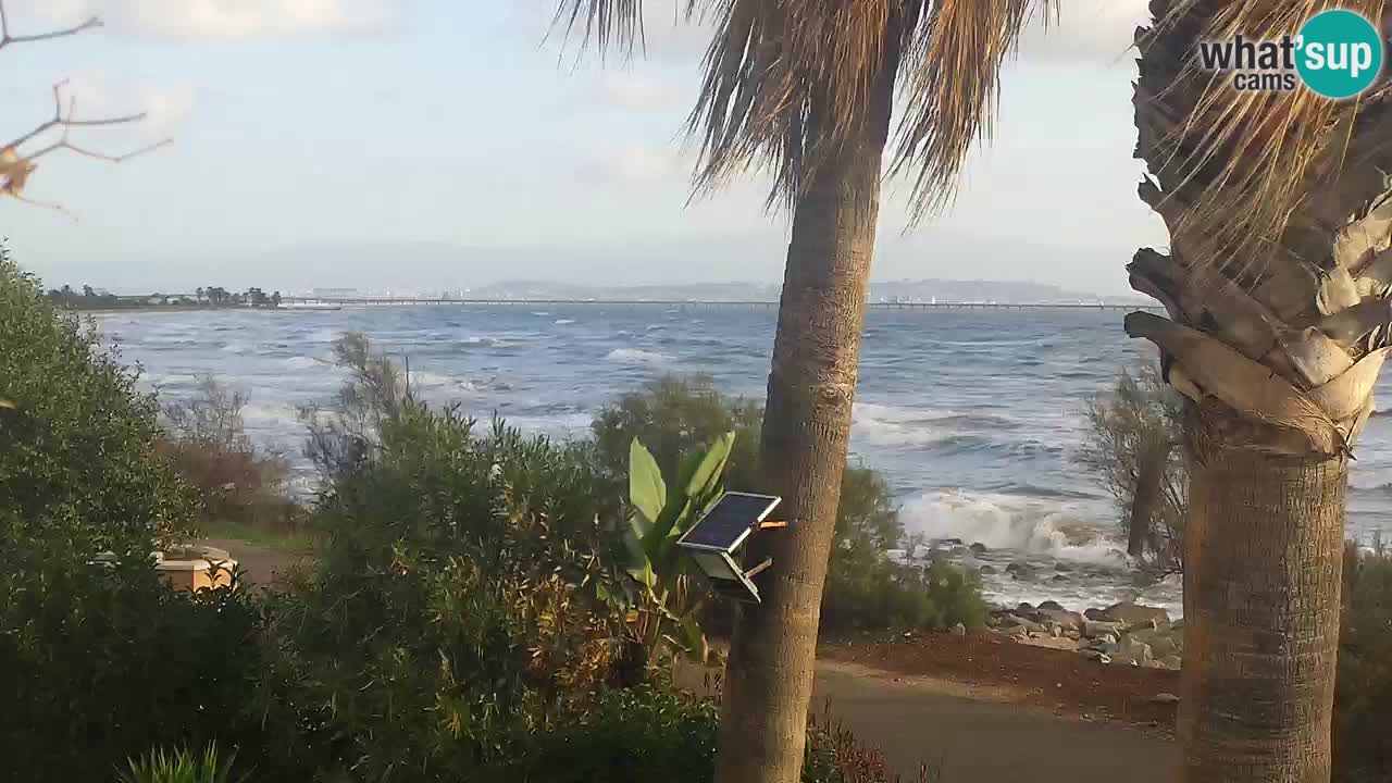
{"type": "Polygon", "coordinates": [[[92,15],[116,31],[175,38],[294,36],[381,29],[398,14],[393,0],[25,0],[54,22],[92,15]]]}

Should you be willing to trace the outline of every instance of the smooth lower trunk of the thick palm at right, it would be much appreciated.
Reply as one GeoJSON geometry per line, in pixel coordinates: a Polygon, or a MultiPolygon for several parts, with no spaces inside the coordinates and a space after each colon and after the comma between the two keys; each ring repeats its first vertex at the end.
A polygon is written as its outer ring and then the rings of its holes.
{"type": "Polygon", "coordinates": [[[1185,528],[1185,780],[1329,780],[1347,460],[1214,449],[1185,528]]]}

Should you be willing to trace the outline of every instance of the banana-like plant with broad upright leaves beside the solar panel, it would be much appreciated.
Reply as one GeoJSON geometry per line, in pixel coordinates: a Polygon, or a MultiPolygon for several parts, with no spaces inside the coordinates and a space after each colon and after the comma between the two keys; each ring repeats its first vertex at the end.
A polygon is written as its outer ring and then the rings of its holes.
{"type": "Polygon", "coordinates": [[[720,500],[734,443],[735,433],[727,432],[704,454],[688,454],[671,488],[657,460],[636,437],[629,446],[632,513],[624,528],[624,550],[638,595],[626,617],[629,641],[642,651],[644,669],[667,655],[686,655],[703,663],[710,658],[699,620],[706,592],[693,584],[692,567],[677,539],[720,500]]]}

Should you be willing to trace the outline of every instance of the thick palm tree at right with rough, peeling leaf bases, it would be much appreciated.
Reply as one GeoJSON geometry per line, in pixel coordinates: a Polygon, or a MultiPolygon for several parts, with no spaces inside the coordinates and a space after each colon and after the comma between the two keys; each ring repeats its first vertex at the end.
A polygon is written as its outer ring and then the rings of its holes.
{"type": "Polygon", "coordinates": [[[1329,779],[1349,457],[1392,346],[1392,93],[1239,93],[1193,61],[1327,6],[1151,0],[1137,31],[1140,196],[1171,248],[1128,269],[1169,319],[1126,332],[1187,397],[1187,782],[1329,779]]]}

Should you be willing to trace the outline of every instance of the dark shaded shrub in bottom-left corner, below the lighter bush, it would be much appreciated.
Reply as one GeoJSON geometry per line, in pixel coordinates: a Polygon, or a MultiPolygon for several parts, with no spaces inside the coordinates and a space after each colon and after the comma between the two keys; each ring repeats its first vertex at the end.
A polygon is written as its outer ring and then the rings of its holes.
{"type": "Polygon", "coordinates": [[[0,779],[106,780],[141,748],[256,744],[252,596],[146,563],[0,573],[0,779]]]}

